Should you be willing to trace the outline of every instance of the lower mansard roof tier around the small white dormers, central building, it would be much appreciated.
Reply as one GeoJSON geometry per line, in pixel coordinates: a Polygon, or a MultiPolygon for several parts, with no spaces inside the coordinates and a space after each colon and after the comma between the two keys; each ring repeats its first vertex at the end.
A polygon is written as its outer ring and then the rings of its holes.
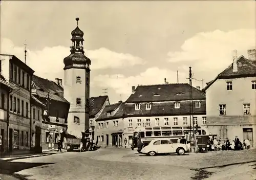
{"type": "MultiPolygon", "coordinates": [[[[201,107],[196,108],[196,102],[193,101],[194,114],[206,114],[206,102],[200,100],[201,107]]],[[[125,117],[143,117],[143,116],[178,116],[190,114],[190,102],[180,101],[180,108],[174,108],[175,102],[152,103],[151,109],[146,110],[146,103],[141,104],[140,110],[135,110],[135,104],[125,104],[125,117]]]]}

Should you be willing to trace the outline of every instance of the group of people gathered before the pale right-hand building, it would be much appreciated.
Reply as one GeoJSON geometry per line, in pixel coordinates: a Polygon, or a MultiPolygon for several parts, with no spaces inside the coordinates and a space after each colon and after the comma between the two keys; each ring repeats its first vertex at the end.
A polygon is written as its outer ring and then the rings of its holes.
{"type": "Polygon", "coordinates": [[[217,140],[210,140],[210,147],[211,150],[218,151],[218,150],[243,150],[250,148],[250,141],[248,139],[244,140],[244,143],[240,142],[239,138],[236,136],[232,142],[226,139],[226,141],[217,140]]]}

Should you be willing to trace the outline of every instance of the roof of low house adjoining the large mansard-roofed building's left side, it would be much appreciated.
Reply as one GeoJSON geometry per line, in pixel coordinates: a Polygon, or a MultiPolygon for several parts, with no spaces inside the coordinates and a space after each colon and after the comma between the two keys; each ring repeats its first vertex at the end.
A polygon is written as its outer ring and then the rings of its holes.
{"type": "MultiPolygon", "coordinates": [[[[116,104],[106,105],[104,107],[104,109],[102,110],[102,113],[100,114],[100,116],[97,118],[97,120],[116,119],[116,118],[122,117],[123,113],[121,113],[121,111],[123,110],[123,108],[121,108],[121,109],[119,108],[114,115],[108,116],[108,113],[111,113],[112,111],[115,111],[122,104],[123,103],[116,103],[116,104]]],[[[124,105],[122,105],[122,107],[124,107],[124,105]]]]}

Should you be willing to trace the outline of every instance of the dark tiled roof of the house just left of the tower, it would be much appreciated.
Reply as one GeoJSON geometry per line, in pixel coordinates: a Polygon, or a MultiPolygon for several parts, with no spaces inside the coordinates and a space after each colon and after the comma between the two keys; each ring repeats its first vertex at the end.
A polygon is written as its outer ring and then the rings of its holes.
{"type": "MultiPolygon", "coordinates": [[[[50,94],[59,94],[59,92],[63,92],[63,88],[57,85],[54,81],[50,81],[36,75],[32,76],[32,81],[35,83],[36,89],[42,89],[44,92],[49,91],[50,94]]],[[[61,94],[59,95],[61,96],[61,94]]]]}

